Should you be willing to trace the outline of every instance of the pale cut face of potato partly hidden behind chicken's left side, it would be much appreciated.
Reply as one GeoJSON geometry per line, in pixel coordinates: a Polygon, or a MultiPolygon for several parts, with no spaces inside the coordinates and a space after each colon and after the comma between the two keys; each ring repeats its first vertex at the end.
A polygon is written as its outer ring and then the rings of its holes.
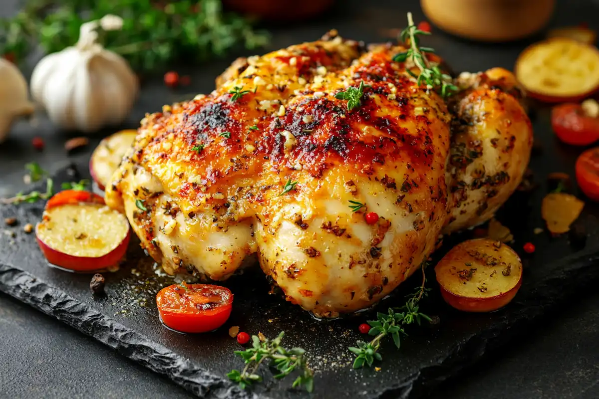
{"type": "Polygon", "coordinates": [[[105,138],[93,151],[92,167],[95,178],[102,185],[110,180],[114,170],[119,167],[120,160],[135,140],[137,130],[124,130],[105,138]]]}

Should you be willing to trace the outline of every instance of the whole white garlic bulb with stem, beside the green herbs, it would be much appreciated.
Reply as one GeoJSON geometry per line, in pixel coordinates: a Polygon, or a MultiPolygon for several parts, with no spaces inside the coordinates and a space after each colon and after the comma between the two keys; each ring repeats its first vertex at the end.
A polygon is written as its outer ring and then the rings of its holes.
{"type": "Polygon", "coordinates": [[[53,123],[93,132],[129,114],[139,90],[137,77],[123,57],[96,43],[95,31],[118,30],[122,23],[111,15],[86,22],[74,47],[49,54],[35,66],[31,93],[53,123]]]}

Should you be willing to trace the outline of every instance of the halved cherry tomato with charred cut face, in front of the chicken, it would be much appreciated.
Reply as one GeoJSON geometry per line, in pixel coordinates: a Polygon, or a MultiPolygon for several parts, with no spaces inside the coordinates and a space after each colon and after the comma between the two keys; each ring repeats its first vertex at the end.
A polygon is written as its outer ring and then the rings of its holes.
{"type": "Polygon", "coordinates": [[[162,322],[182,333],[205,333],[219,328],[231,315],[233,294],[210,284],[173,284],[156,294],[162,322]]]}

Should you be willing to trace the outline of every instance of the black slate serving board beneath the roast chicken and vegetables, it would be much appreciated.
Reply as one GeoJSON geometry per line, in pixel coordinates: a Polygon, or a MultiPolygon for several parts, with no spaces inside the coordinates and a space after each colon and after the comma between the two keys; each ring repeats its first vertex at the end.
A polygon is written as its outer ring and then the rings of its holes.
{"type": "MultiPolygon", "coordinates": [[[[68,273],[46,265],[35,243],[34,234],[22,230],[25,223],[40,220],[43,204],[5,205],[0,218],[17,217],[20,225],[0,235],[0,290],[49,315],[95,337],[132,360],[165,374],[174,382],[201,397],[307,397],[289,389],[291,380],[274,381],[267,369],[265,383],[253,391],[241,391],[228,382],[225,373],[241,366],[233,351],[239,346],[228,336],[228,327],[241,326],[250,333],[262,331],[273,337],[285,330],[285,345],[302,346],[310,354],[316,371],[313,397],[344,395],[349,397],[405,397],[425,395],[439,382],[479,360],[485,352],[501,345],[525,328],[550,307],[569,296],[584,293],[599,279],[599,223],[596,206],[585,206],[578,223],[589,234],[585,248],[575,251],[567,236],[552,238],[547,233],[533,234],[543,227],[540,202],[546,192],[544,178],[548,172],[571,172],[578,151],[557,144],[547,132],[547,109],[538,111],[537,142],[543,142],[540,156],[533,157],[531,167],[540,187],[532,193],[516,193],[498,214],[512,229],[514,248],[521,252],[522,243],[532,241],[537,251],[525,256],[524,284],[516,299],[504,309],[489,314],[459,313],[450,309],[437,294],[434,277],[429,278],[432,295],[422,306],[426,313],[440,316],[438,328],[410,328],[410,337],[397,351],[391,343],[383,345],[381,369],[352,370],[352,355],[347,346],[364,336],[357,325],[367,315],[317,321],[307,312],[285,302],[278,294],[268,294],[269,285],[259,270],[246,270],[225,283],[235,294],[231,318],[219,331],[198,336],[179,334],[160,324],[154,296],[172,279],[164,276],[143,252],[132,244],[128,262],[118,272],[105,273],[107,296],[94,299],[89,292],[89,275],[68,273]],[[12,234],[16,236],[12,236],[12,234]],[[135,269],[135,270],[132,270],[135,269]],[[158,274],[156,274],[158,273],[158,274]]],[[[85,170],[80,165],[76,170],[85,170]]],[[[77,172],[79,173],[79,172],[77,172]]],[[[76,173],[76,174],[77,174],[76,173]]],[[[80,174],[85,177],[87,172],[80,174]]],[[[73,168],[66,168],[55,181],[71,181],[73,168]]],[[[1,219],[0,219],[1,220],[1,219]]],[[[435,257],[470,232],[448,237],[435,257]]],[[[429,277],[431,277],[429,270],[429,277]]],[[[418,278],[416,278],[418,279],[418,278]]],[[[398,306],[403,294],[418,284],[410,279],[398,293],[380,305],[398,306]]]]}

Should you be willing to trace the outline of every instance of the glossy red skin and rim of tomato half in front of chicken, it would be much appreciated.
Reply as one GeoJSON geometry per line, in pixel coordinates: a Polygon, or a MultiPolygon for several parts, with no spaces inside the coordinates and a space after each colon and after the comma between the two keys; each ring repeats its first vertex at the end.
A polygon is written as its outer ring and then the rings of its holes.
{"type": "MultiPolygon", "coordinates": [[[[210,284],[187,284],[187,287],[188,289],[193,290],[194,287],[197,288],[200,285],[229,291],[225,287],[210,284]]],[[[156,294],[158,313],[160,314],[162,322],[167,325],[167,327],[173,328],[173,330],[180,331],[181,333],[207,333],[208,331],[216,330],[216,328],[225,324],[229,316],[231,316],[233,307],[233,294],[231,291],[229,291],[229,303],[210,310],[181,311],[179,309],[170,309],[169,307],[161,306],[159,304],[159,297],[169,288],[177,286],[178,284],[169,285],[168,287],[162,288],[162,290],[158,291],[158,294],[156,294]]]]}

